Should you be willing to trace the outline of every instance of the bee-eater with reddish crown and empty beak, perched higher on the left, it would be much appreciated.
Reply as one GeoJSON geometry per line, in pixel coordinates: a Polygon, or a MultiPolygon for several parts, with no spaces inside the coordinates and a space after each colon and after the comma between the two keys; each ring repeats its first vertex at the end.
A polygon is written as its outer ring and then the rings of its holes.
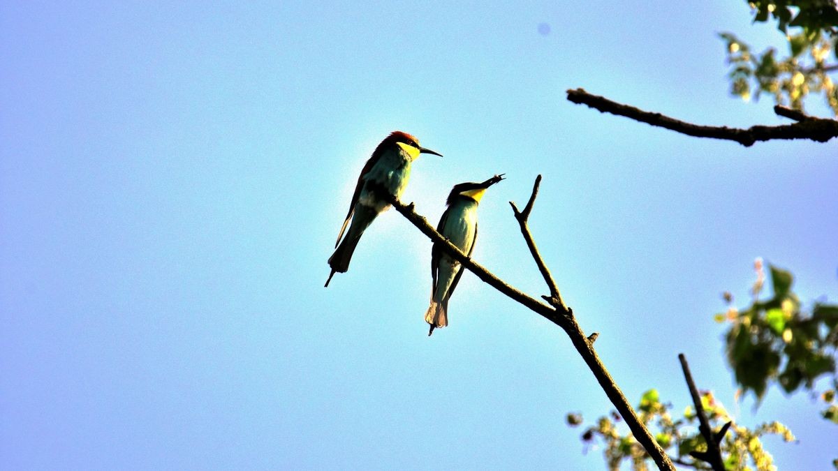
{"type": "Polygon", "coordinates": [[[441,153],[423,148],[419,139],[406,132],[394,131],[375,148],[370,160],[364,165],[355,185],[352,201],[349,203],[349,213],[346,214],[344,225],[340,227],[338,241],[332,256],[328,258],[328,265],[332,272],[328,275],[326,285],[332,280],[335,272],[344,273],[349,270],[349,260],[358,245],[364,230],[370,226],[375,217],[390,208],[390,203],[379,198],[377,192],[386,191],[401,198],[411,176],[411,163],[420,153],[432,153],[442,157],[441,153]],[[352,224],[349,225],[349,220],[352,224]],[[349,232],[343,237],[346,226],[349,232]]]}

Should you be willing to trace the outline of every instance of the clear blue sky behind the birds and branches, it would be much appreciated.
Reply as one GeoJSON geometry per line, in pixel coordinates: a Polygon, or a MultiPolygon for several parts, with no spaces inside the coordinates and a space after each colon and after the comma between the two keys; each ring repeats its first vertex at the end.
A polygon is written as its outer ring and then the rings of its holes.
{"type": "MultiPolygon", "coordinates": [[[[575,468],[567,411],[610,410],[555,326],[467,273],[427,338],[429,241],[391,211],[348,273],[326,259],[388,132],[423,156],[404,199],[506,173],[476,259],[546,292],[531,218],[582,328],[633,402],[689,403],[676,355],[779,468],[827,468],[805,394],[738,406],[719,294],[756,256],[835,301],[835,144],[685,137],[566,101],[783,122],[727,96],[742,2],[60,3],[0,6],[0,462],[4,468],[575,468]],[[539,25],[549,25],[540,33],[539,25]]],[[[810,111],[825,112],[817,101],[810,111]]],[[[834,453],[833,453],[834,454],[834,453]]]]}

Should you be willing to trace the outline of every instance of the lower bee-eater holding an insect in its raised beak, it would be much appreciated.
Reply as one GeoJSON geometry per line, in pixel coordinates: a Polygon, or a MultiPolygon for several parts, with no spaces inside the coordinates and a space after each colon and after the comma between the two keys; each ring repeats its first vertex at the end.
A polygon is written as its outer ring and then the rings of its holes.
{"type": "MultiPolygon", "coordinates": [[[[448,194],[448,205],[437,225],[437,232],[457,246],[463,253],[471,256],[474,241],[477,240],[477,206],[486,189],[504,179],[504,173],[495,175],[483,183],[456,184],[448,194]]],[[[454,260],[442,248],[433,245],[431,249],[431,306],[425,313],[425,322],[431,324],[428,335],[433,329],[448,325],[448,300],[463,275],[463,266],[454,260]]]]}

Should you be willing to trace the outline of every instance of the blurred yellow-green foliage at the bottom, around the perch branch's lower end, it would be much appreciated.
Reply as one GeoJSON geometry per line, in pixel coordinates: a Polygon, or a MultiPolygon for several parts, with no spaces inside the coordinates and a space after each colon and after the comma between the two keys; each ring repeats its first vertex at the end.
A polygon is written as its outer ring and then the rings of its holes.
{"type": "MultiPolygon", "coordinates": [[[[718,432],[725,423],[732,422],[720,445],[727,469],[774,470],[776,467],[773,465],[773,458],[763,448],[761,438],[773,434],[783,437],[786,442],[794,440],[794,435],[779,422],[763,423],[753,430],[737,425],[710,391],[701,391],[701,406],[704,407],[714,432],[718,432]]],[[[698,431],[699,421],[692,406],[686,407],[683,417],[674,418],[672,405],[661,402],[658,391],[651,389],[640,398],[638,411],[640,421],[649,428],[660,447],[664,448],[676,464],[709,469],[706,463],[690,455],[690,452],[703,452],[707,449],[704,437],[698,431]]],[[[595,425],[587,427],[582,432],[582,443],[586,451],[589,448],[602,447],[608,469],[619,469],[622,463],[631,463],[631,468],[635,471],[654,468],[649,454],[634,439],[631,432],[623,432],[622,429],[628,427],[620,427],[620,420],[617,412],[612,411],[610,416],[599,417],[595,425]]],[[[581,414],[567,415],[567,424],[571,427],[578,427],[583,422],[581,414]]]]}

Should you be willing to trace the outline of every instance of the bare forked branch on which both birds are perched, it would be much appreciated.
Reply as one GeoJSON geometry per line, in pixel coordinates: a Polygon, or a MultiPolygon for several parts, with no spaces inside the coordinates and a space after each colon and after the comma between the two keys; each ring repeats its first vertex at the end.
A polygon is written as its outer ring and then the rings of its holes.
{"type": "MultiPolygon", "coordinates": [[[[497,176],[494,178],[497,178],[497,176]]],[[[431,239],[435,245],[438,245],[442,251],[444,251],[448,256],[451,256],[454,260],[459,261],[463,267],[468,269],[468,271],[473,272],[478,278],[480,278],[480,280],[489,284],[491,287],[494,287],[499,292],[504,293],[504,295],[508,298],[523,304],[526,308],[529,308],[531,311],[541,315],[551,323],[555,323],[561,327],[561,329],[564,330],[567,336],[571,339],[571,342],[577,349],[579,355],[582,356],[582,360],[585,360],[585,363],[593,373],[594,377],[596,377],[597,382],[603,388],[603,391],[605,391],[608,399],[617,408],[618,412],[623,417],[623,420],[625,420],[626,424],[634,434],[634,437],[637,438],[638,442],[644,447],[646,452],[649,453],[649,456],[654,460],[654,463],[660,469],[674,470],[675,467],[672,464],[670,457],[665,453],[663,448],[660,448],[660,445],[654,440],[654,437],[652,437],[651,433],[649,433],[649,430],[644,426],[643,422],[639,420],[634,408],[629,404],[629,401],[623,395],[623,391],[620,391],[617,383],[614,382],[613,378],[608,373],[608,370],[605,368],[605,365],[603,365],[603,362],[599,360],[596,350],[593,349],[593,342],[597,339],[597,334],[591,334],[590,337],[585,336],[582,328],[579,326],[579,323],[577,323],[577,320],[573,315],[572,309],[568,308],[562,300],[561,293],[559,292],[556,282],[553,279],[550,270],[547,268],[544,259],[541,257],[538,248],[535,246],[535,239],[530,233],[527,221],[529,220],[530,213],[532,212],[533,204],[535,204],[535,197],[538,194],[540,184],[541,175],[535,179],[532,194],[530,195],[530,199],[527,201],[523,211],[518,210],[515,203],[511,201],[510,205],[512,206],[515,220],[517,220],[520,225],[521,234],[524,236],[526,244],[530,248],[530,254],[535,260],[535,264],[538,266],[538,269],[541,272],[542,277],[544,277],[547,287],[550,290],[549,295],[542,296],[542,298],[544,298],[549,304],[542,303],[524,292],[521,292],[519,289],[510,286],[509,283],[504,282],[502,279],[495,276],[494,273],[489,272],[489,270],[485,267],[478,264],[476,261],[473,261],[471,257],[463,253],[463,251],[460,251],[457,246],[454,246],[451,241],[448,241],[439,232],[437,232],[432,225],[428,224],[424,217],[416,214],[412,203],[402,204],[401,201],[392,194],[380,194],[380,198],[384,199],[389,204],[392,204],[392,206],[396,208],[396,211],[409,220],[412,225],[415,225],[418,230],[422,231],[422,234],[427,235],[427,237],[431,239]]]]}

